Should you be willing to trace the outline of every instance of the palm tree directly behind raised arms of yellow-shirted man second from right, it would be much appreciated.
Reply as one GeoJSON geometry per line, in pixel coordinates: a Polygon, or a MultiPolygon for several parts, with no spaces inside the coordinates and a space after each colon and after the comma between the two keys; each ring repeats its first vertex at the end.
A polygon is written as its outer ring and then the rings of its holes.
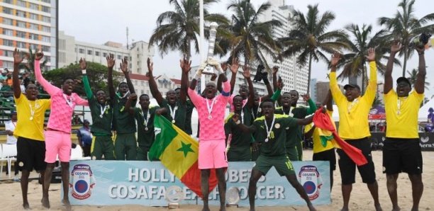
{"type": "MultiPolygon", "coordinates": [[[[372,33],[372,25],[359,25],[350,24],[345,26],[345,29],[352,35],[353,40],[346,38],[341,40],[350,46],[350,52],[343,55],[343,59],[339,64],[339,67],[343,67],[343,72],[339,75],[340,78],[350,78],[352,76],[362,76],[362,93],[367,86],[367,66],[366,58],[367,50],[369,47],[375,47],[375,62],[377,63],[377,69],[380,73],[384,73],[386,70],[386,64],[382,63],[382,60],[389,59],[384,54],[389,50],[384,41],[385,30],[380,30],[375,33],[373,37],[369,37],[372,33]]],[[[398,59],[394,59],[394,63],[401,66],[398,59]]]]}

